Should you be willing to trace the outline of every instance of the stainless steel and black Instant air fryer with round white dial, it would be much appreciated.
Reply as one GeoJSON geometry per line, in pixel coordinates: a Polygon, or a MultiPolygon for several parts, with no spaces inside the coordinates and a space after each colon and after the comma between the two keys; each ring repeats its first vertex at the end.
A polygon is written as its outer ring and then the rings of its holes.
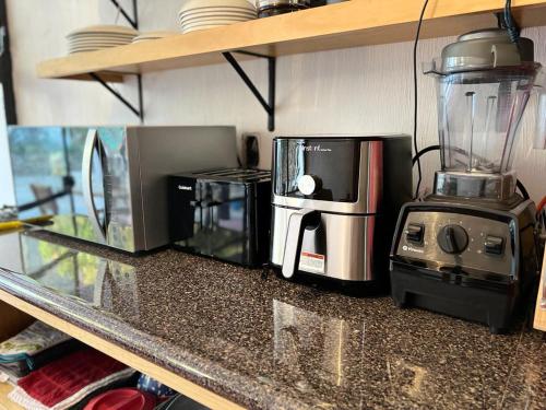
{"type": "Polygon", "coordinates": [[[412,196],[407,136],[273,142],[271,263],[286,279],[388,280],[396,215],[412,196]]]}

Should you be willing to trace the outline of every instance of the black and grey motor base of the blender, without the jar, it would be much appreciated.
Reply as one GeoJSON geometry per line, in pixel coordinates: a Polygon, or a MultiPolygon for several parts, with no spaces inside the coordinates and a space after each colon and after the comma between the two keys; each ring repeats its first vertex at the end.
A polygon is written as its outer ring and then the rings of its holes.
{"type": "Polygon", "coordinates": [[[395,304],[508,331],[538,278],[534,214],[531,200],[509,211],[461,200],[405,204],[391,251],[395,304]]]}

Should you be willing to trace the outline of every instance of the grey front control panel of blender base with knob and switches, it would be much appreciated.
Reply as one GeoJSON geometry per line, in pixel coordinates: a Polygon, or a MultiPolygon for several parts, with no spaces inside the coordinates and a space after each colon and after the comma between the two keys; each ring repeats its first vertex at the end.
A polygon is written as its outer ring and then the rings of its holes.
{"type": "Polygon", "coordinates": [[[510,276],[517,226],[508,218],[443,211],[410,211],[399,230],[396,255],[434,263],[510,276]]]}

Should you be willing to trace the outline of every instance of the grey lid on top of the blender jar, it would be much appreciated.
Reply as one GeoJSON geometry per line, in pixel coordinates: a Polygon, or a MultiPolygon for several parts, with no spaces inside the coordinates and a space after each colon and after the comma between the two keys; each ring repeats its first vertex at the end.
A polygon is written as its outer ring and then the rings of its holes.
{"type": "Polygon", "coordinates": [[[506,30],[485,28],[463,34],[455,43],[446,46],[439,71],[451,73],[487,70],[525,62],[534,62],[532,39],[521,37],[514,44],[506,30]]]}

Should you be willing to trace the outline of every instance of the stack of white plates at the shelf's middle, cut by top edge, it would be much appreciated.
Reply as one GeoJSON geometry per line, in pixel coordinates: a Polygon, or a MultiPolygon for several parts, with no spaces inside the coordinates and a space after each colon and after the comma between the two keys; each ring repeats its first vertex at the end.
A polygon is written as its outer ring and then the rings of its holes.
{"type": "Polygon", "coordinates": [[[178,12],[182,33],[229,25],[257,17],[247,0],[186,0],[178,12]]]}

